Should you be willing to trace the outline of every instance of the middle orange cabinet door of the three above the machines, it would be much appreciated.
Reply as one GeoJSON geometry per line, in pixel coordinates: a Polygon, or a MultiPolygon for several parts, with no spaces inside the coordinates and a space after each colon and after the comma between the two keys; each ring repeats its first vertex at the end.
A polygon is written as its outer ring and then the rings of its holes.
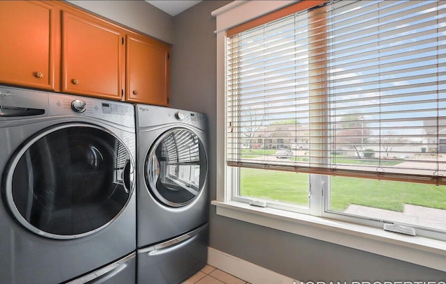
{"type": "Polygon", "coordinates": [[[62,14],[62,91],[121,99],[123,35],[91,17],[62,14]]]}

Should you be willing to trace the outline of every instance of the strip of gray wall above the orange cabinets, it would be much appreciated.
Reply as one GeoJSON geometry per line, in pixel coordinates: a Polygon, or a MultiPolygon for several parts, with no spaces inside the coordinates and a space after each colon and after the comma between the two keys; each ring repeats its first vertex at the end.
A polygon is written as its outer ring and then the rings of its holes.
{"type": "Polygon", "coordinates": [[[68,0],[67,2],[158,40],[172,43],[173,17],[146,1],[68,0]]]}

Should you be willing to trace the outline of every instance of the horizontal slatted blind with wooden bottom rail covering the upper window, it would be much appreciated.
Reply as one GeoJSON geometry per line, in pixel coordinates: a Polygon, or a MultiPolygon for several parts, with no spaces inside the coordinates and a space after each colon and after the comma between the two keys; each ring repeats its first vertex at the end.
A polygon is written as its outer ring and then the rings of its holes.
{"type": "Polygon", "coordinates": [[[229,166],[446,184],[442,1],[332,1],[227,40],[229,166]]]}

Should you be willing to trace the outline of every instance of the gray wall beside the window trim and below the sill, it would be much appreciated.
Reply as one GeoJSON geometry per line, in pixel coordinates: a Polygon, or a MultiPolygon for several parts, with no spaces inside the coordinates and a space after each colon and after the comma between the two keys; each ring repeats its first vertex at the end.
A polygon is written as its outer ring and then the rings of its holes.
{"type": "MultiPolygon", "coordinates": [[[[210,13],[229,1],[203,1],[174,17],[171,105],[209,118],[210,191],[215,199],[216,37],[210,13]]],[[[210,208],[210,246],[300,281],[440,281],[446,274],[316,239],[236,221],[210,208]]],[[[446,262],[446,260],[445,260],[446,262]]]]}

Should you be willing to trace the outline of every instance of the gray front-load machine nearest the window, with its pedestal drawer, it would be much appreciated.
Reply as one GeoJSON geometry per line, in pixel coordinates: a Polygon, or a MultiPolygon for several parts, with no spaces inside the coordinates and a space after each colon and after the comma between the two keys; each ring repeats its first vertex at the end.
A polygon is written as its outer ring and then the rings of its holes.
{"type": "Polygon", "coordinates": [[[137,281],[180,283],[206,265],[206,115],[145,104],[137,118],[137,281]]]}

